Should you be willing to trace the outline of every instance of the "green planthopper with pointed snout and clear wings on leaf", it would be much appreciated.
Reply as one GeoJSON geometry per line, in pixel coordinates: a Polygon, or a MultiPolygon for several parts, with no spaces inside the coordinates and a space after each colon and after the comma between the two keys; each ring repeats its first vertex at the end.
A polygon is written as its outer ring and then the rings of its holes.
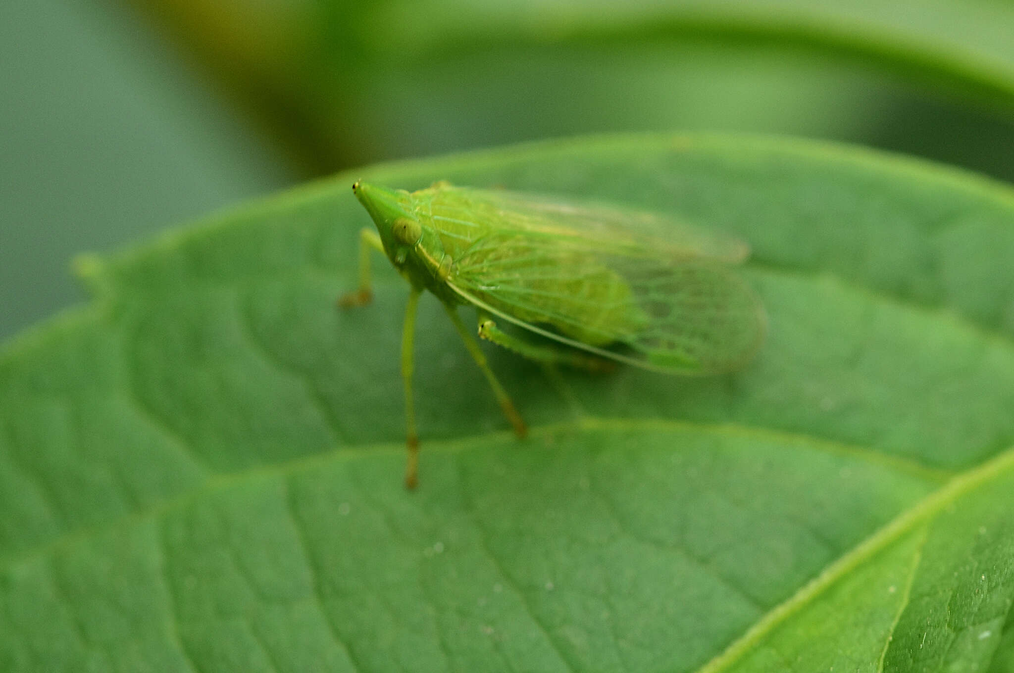
{"type": "Polygon", "coordinates": [[[734,238],[644,212],[448,182],[409,193],[359,181],[352,191],[377,231],[362,230],[359,289],[340,304],[370,301],[371,249],[411,286],[402,335],[410,489],[419,469],[413,334],[424,290],[443,303],[521,437],[524,422],[458,304],[478,309],[483,339],[591,370],[622,362],[668,374],[729,372],[764,339],[760,302],[732,270],[748,254],[734,238]],[[497,319],[522,329],[505,332],[497,319]],[[542,339],[516,335],[524,332],[542,339]]]}

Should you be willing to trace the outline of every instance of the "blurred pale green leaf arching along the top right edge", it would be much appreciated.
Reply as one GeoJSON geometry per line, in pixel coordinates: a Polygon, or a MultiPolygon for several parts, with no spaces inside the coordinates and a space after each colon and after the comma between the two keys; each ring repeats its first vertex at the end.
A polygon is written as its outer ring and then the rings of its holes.
{"type": "MultiPolygon", "coordinates": [[[[330,3],[344,11],[345,3],[330,3]]],[[[355,5],[353,5],[353,8],[355,5]]],[[[721,38],[844,50],[1014,96],[1014,9],[995,2],[785,0],[677,2],[387,2],[362,7],[339,29],[388,58],[439,53],[477,43],[573,43],[631,38],[721,38]],[[425,29],[420,29],[422,26],[425,29]]],[[[355,9],[353,9],[355,11],[355,9]]],[[[333,24],[334,25],[334,24],[333,24]]],[[[407,59],[408,60],[408,59],[407,59]]]]}

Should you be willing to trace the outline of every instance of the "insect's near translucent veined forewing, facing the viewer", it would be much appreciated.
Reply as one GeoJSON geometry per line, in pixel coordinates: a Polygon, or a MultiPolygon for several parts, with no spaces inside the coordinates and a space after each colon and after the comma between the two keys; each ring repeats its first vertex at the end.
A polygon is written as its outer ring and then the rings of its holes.
{"type": "Polygon", "coordinates": [[[636,241],[493,232],[455,261],[449,284],[522,327],[670,373],[735,370],[765,332],[758,299],[728,265],[636,241]]]}

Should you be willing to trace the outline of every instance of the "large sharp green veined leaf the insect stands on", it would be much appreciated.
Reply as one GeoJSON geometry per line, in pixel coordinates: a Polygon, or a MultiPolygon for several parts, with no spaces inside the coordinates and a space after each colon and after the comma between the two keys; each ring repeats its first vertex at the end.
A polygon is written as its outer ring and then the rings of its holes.
{"type": "Polygon", "coordinates": [[[1014,192],[784,139],[630,136],[364,169],[79,268],[0,356],[2,670],[1010,670],[1014,192]],[[488,351],[407,289],[339,311],[355,177],[675,213],[753,246],[747,369],[488,351]]]}

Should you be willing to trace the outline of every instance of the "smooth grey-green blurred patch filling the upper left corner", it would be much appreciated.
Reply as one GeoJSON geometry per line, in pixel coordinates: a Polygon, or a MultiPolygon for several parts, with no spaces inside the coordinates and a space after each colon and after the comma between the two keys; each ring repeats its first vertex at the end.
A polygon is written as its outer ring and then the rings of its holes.
{"type": "Polygon", "coordinates": [[[82,297],[74,253],[299,174],[135,14],[0,2],[0,338],[82,297]]]}

